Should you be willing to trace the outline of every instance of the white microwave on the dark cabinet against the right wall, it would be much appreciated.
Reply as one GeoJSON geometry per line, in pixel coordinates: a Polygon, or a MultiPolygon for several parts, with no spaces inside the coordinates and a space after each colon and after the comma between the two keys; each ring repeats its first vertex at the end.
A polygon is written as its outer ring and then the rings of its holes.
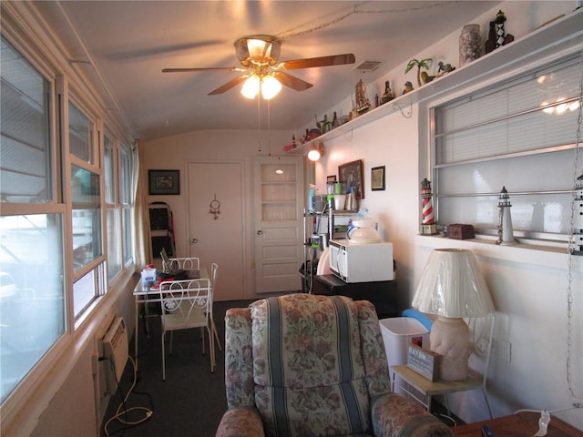
{"type": "Polygon", "coordinates": [[[353,243],[331,239],[330,269],[344,282],[394,280],[393,243],[353,243]]]}

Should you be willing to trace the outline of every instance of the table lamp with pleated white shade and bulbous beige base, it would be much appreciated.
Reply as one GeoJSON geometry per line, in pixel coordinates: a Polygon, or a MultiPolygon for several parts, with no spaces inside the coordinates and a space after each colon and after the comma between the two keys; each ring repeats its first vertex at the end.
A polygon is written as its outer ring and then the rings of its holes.
{"type": "Polygon", "coordinates": [[[474,254],[465,249],[435,249],[412,306],[437,316],[429,342],[431,351],[441,355],[440,378],[465,380],[471,344],[463,318],[484,317],[496,310],[474,254]]]}

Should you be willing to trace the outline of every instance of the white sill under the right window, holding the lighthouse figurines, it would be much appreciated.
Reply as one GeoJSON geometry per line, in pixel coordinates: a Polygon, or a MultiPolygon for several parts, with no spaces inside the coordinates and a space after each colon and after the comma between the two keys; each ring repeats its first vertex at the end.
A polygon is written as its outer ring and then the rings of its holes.
{"type": "MultiPolygon", "coordinates": [[[[503,259],[551,269],[568,269],[569,255],[565,247],[518,242],[511,246],[496,244],[492,237],[445,239],[441,236],[418,235],[416,244],[429,249],[470,249],[476,257],[503,259]]],[[[572,256],[573,270],[583,272],[583,257],[572,256]]]]}

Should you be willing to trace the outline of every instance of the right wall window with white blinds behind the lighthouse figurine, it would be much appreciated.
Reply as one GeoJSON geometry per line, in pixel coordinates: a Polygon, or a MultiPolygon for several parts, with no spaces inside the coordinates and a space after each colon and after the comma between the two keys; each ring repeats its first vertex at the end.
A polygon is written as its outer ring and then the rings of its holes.
{"type": "Polygon", "coordinates": [[[572,57],[432,109],[440,224],[496,233],[506,187],[515,236],[568,239],[581,76],[572,57]]]}

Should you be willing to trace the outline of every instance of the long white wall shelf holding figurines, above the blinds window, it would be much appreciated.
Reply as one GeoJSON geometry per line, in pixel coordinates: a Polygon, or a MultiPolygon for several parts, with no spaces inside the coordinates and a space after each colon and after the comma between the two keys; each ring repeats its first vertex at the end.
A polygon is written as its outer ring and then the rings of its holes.
{"type": "Polygon", "coordinates": [[[557,59],[565,56],[573,50],[573,47],[578,46],[580,48],[583,44],[582,21],[583,8],[580,8],[570,15],[563,16],[514,41],[508,46],[499,47],[476,61],[461,68],[456,68],[455,71],[445,76],[435,78],[429,84],[416,88],[410,93],[397,97],[380,107],[375,107],[362,116],[356,117],[342,126],[322,134],[320,137],[292,148],[287,153],[293,155],[304,154],[315,142],[340,137],[379,118],[386,117],[397,111],[406,110],[411,105],[439,97],[459,86],[478,82],[485,84],[489,80],[508,74],[515,70],[517,66],[528,68],[531,65],[536,66],[541,59],[547,57],[557,59]]]}

